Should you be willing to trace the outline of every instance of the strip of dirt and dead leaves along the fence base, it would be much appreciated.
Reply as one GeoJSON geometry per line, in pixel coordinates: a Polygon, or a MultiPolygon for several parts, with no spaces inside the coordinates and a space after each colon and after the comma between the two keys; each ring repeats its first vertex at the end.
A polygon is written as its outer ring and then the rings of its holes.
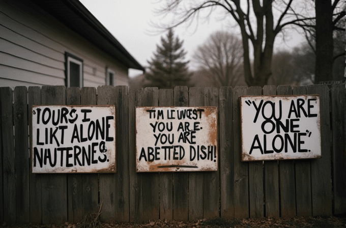
{"type": "Polygon", "coordinates": [[[157,228],[157,227],[189,227],[189,228],[251,228],[251,227],[316,227],[316,228],[333,228],[346,227],[346,217],[295,217],[295,218],[256,218],[256,219],[233,219],[227,220],[223,218],[201,219],[191,222],[182,222],[175,220],[158,220],[150,221],[144,224],[136,223],[100,223],[95,220],[88,220],[77,224],[66,222],[63,225],[7,225],[2,227],[8,228],[157,228]]]}

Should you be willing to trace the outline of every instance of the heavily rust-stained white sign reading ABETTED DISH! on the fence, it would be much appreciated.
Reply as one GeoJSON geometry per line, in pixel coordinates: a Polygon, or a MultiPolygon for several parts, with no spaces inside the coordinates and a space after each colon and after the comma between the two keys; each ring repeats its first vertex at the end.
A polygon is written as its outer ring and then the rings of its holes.
{"type": "Polygon", "coordinates": [[[137,107],[136,172],[216,171],[217,107],[137,107]]]}

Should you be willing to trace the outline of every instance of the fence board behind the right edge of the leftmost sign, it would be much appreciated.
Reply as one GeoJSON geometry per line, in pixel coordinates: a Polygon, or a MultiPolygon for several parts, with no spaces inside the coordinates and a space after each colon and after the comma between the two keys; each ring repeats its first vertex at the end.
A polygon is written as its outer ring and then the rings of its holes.
{"type": "MultiPolygon", "coordinates": [[[[115,90],[112,86],[99,86],[98,89],[98,104],[99,105],[114,105],[116,104],[115,90]]],[[[116,152],[118,154],[118,151],[116,152]]],[[[118,167],[117,167],[118,172],[118,167]]],[[[115,221],[114,215],[116,213],[116,198],[115,194],[115,174],[100,174],[99,175],[99,192],[100,204],[102,209],[100,218],[104,222],[115,221]]]]}

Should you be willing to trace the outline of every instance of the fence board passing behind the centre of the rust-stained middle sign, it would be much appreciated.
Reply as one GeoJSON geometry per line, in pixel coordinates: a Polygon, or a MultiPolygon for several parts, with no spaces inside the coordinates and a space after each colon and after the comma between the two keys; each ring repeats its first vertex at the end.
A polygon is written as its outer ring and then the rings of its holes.
{"type": "MultiPolygon", "coordinates": [[[[187,87],[174,88],[174,105],[177,107],[189,106],[189,91],[187,87]]],[[[188,220],[189,215],[189,174],[173,173],[173,218],[175,220],[188,220]]]]}

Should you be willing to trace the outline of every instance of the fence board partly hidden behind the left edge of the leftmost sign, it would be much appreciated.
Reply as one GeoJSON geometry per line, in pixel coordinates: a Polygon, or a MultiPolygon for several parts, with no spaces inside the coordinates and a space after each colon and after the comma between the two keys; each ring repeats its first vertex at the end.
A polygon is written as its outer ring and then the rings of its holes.
{"type": "MultiPolygon", "coordinates": [[[[29,135],[30,135],[30,153],[33,147],[32,140],[32,108],[33,105],[41,104],[41,88],[29,87],[28,89],[28,115],[29,115],[29,135]]],[[[30,154],[31,157],[31,154],[30,154]]],[[[42,223],[42,174],[33,174],[31,172],[32,157],[30,159],[30,222],[42,223]]]]}

